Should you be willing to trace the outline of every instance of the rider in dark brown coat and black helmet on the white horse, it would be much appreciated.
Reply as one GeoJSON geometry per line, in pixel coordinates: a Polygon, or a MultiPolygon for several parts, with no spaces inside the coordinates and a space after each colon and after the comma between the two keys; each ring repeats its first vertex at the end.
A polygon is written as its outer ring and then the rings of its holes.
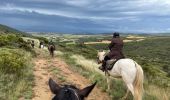
{"type": "Polygon", "coordinates": [[[104,71],[107,69],[107,61],[114,59],[114,63],[124,58],[122,49],[123,49],[123,40],[120,38],[119,33],[115,32],[113,33],[113,38],[111,40],[111,43],[108,46],[110,52],[105,56],[104,60],[102,61],[102,67],[99,68],[100,70],[104,71]]]}

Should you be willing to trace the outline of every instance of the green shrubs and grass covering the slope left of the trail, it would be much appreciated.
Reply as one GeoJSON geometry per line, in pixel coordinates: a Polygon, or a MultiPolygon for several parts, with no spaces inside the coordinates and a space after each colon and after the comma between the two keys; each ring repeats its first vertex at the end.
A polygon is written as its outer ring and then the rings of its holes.
{"type": "Polygon", "coordinates": [[[0,100],[32,97],[31,58],[35,52],[21,36],[17,33],[0,34],[0,100]]]}

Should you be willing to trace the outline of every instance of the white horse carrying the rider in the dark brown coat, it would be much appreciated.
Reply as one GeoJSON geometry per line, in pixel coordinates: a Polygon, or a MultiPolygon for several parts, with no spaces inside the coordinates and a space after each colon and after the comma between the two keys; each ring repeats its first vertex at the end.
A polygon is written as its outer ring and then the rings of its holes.
{"type": "MultiPolygon", "coordinates": [[[[104,51],[98,52],[98,63],[104,60],[106,53],[104,51]]],[[[142,100],[143,93],[143,70],[139,64],[132,59],[120,59],[118,60],[111,70],[108,70],[108,74],[115,78],[121,77],[127,86],[126,95],[123,97],[127,98],[129,91],[132,93],[135,100],[142,100]]],[[[107,76],[109,76],[107,75],[107,76]]],[[[107,77],[109,79],[109,77],[107,77]]],[[[108,82],[108,89],[110,84],[108,82]]]]}

